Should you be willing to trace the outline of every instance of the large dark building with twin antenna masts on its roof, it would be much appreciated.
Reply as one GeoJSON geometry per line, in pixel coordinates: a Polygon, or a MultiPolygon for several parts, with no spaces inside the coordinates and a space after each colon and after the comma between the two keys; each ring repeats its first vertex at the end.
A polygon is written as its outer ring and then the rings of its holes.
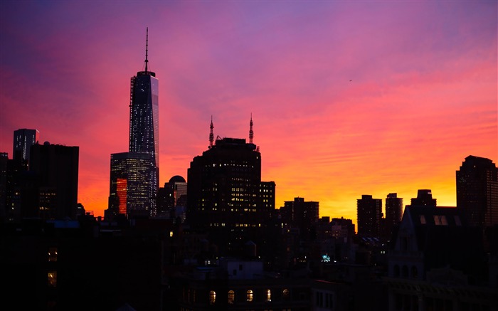
{"type": "Polygon", "coordinates": [[[213,144],[211,120],[210,145],[191,161],[187,180],[186,221],[191,228],[209,229],[216,236],[211,239],[226,251],[247,239],[263,240],[265,221],[275,210],[275,182],[261,181],[255,144],[238,138],[218,138],[213,144]]]}

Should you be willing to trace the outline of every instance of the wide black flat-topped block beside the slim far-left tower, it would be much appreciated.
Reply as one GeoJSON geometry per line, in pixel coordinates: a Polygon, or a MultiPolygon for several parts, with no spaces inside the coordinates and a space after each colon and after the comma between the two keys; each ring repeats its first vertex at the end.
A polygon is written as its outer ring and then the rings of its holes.
{"type": "Polygon", "coordinates": [[[75,219],[78,216],[79,147],[33,144],[23,177],[23,217],[75,219]],[[26,201],[34,199],[36,202],[26,201]]]}

